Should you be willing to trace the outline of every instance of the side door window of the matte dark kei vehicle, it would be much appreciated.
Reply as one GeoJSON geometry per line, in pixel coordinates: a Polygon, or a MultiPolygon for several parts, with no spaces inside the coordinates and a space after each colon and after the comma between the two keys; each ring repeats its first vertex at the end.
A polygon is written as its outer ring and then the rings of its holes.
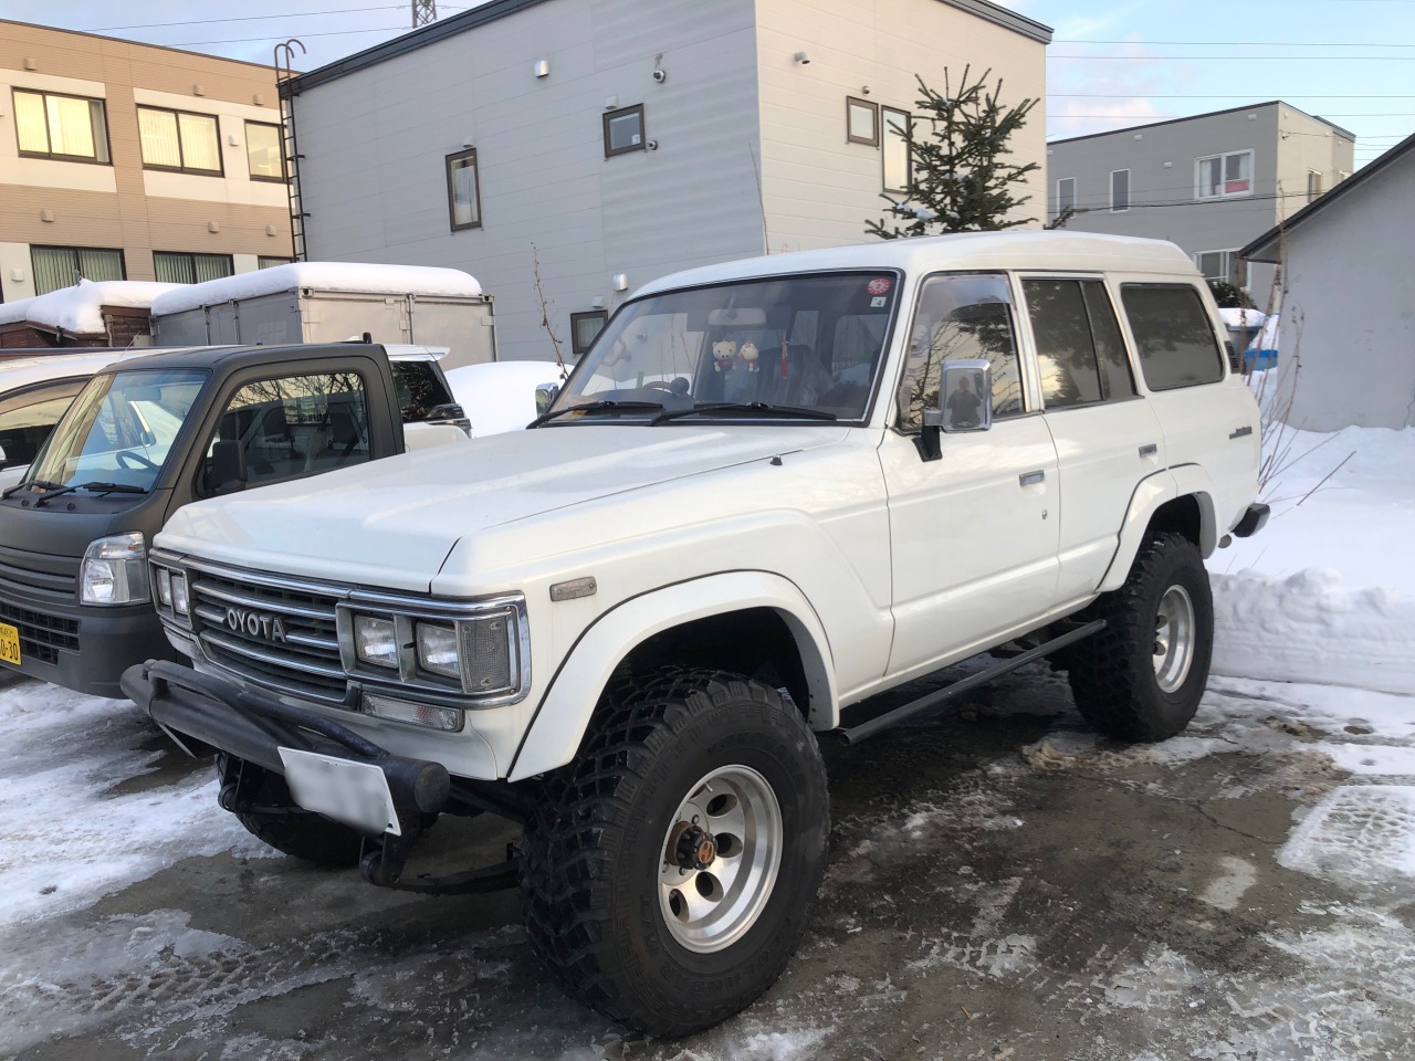
{"type": "MultiPolygon", "coordinates": [[[[252,487],[369,458],[368,403],[357,372],[246,383],[226,402],[212,443],[239,440],[252,487]]],[[[207,448],[208,464],[211,447],[207,448]]]]}

